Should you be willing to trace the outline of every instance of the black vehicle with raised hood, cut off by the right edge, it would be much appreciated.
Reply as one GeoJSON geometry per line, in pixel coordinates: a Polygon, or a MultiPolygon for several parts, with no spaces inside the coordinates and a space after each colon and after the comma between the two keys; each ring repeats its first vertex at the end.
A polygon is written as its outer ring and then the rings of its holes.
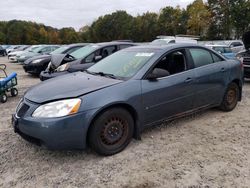
{"type": "Polygon", "coordinates": [[[242,36],[242,40],[244,42],[245,50],[238,53],[236,57],[243,62],[244,77],[250,78],[250,31],[242,36]]]}

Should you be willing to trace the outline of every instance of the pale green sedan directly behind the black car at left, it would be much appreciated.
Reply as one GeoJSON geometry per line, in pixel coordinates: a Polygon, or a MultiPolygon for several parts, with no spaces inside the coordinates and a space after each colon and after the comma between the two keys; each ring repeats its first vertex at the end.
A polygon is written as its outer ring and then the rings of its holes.
{"type": "Polygon", "coordinates": [[[26,53],[22,53],[21,55],[17,55],[16,59],[18,63],[23,63],[29,58],[41,55],[41,54],[49,54],[50,52],[53,52],[57,48],[59,48],[59,45],[41,45],[39,48],[36,48],[35,50],[28,51],[26,53]]]}

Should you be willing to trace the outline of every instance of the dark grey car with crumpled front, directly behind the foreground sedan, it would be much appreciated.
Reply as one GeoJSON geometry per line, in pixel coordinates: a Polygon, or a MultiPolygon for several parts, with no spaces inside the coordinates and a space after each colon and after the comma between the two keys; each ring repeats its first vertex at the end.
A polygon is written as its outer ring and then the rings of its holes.
{"type": "Polygon", "coordinates": [[[41,72],[40,79],[43,81],[64,74],[86,70],[101,59],[134,45],[130,42],[105,42],[89,44],[71,54],[54,55],[47,70],[41,72]]]}

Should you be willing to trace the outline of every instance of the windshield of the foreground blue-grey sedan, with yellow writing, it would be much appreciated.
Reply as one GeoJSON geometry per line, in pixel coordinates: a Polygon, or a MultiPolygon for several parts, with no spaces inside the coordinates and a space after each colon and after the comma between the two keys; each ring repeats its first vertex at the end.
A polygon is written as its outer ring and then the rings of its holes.
{"type": "Polygon", "coordinates": [[[99,61],[87,71],[112,74],[120,78],[131,78],[153,55],[152,52],[119,51],[99,61]]]}

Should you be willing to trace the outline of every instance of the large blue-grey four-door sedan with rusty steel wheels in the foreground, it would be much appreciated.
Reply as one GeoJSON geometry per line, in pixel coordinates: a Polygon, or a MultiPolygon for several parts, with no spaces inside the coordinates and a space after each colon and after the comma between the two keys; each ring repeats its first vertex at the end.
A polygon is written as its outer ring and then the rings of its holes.
{"type": "Polygon", "coordinates": [[[197,110],[233,110],[242,66],[192,44],[121,50],[86,72],[29,89],[12,117],[15,132],[51,149],[122,151],[148,126],[197,110]]]}

